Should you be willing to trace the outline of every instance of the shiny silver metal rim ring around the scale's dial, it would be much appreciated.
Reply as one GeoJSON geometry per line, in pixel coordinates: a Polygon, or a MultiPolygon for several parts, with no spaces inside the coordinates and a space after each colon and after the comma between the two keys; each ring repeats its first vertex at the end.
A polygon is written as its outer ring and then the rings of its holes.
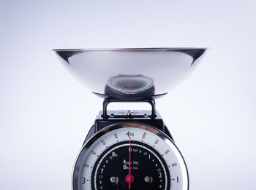
{"type": "Polygon", "coordinates": [[[83,145],[82,149],[80,150],[78,157],[75,161],[75,165],[73,167],[73,175],[72,175],[72,190],[79,190],[78,188],[78,180],[80,178],[80,168],[83,166],[83,157],[88,153],[89,148],[92,146],[92,144],[102,137],[102,135],[105,135],[108,132],[111,132],[113,130],[117,130],[120,128],[129,128],[129,127],[135,127],[140,128],[143,130],[148,130],[155,135],[159,136],[159,138],[162,138],[165,140],[165,143],[167,143],[168,146],[170,146],[170,149],[176,154],[176,157],[178,159],[178,164],[181,166],[181,173],[183,177],[183,187],[182,190],[188,190],[189,189],[189,173],[187,171],[187,165],[186,162],[181,154],[181,151],[179,151],[176,144],[171,140],[164,132],[158,130],[157,128],[140,123],[140,122],[118,122],[116,124],[110,124],[108,127],[105,127],[104,129],[97,132],[95,135],[93,135],[89,140],[83,145]]]}

